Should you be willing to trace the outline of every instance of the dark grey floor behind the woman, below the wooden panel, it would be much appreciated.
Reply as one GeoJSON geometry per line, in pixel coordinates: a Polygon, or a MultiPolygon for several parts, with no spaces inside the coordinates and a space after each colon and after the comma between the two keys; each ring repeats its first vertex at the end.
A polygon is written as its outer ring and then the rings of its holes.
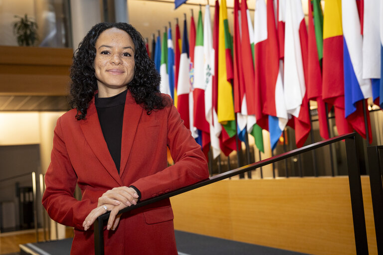
{"type": "MultiPolygon", "coordinates": [[[[183,231],[176,231],[176,242],[179,255],[305,255],[183,231]]],[[[72,239],[68,238],[44,243],[29,243],[24,246],[41,255],[69,255],[71,243],[72,239]]],[[[21,251],[20,254],[8,255],[27,255],[27,253],[21,251]]]]}

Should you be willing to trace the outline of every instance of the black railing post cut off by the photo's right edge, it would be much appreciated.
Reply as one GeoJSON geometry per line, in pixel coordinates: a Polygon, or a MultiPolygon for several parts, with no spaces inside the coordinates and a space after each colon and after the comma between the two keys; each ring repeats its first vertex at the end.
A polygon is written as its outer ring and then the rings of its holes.
{"type": "Polygon", "coordinates": [[[373,202],[377,248],[378,254],[383,255],[383,187],[379,148],[377,146],[368,146],[367,154],[370,166],[371,199],[373,202]]]}

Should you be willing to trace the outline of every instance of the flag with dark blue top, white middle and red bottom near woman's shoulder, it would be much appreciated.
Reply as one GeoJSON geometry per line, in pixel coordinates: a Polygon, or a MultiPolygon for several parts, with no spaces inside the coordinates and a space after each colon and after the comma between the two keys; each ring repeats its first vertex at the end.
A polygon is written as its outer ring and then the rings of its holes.
{"type": "Polygon", "coordinates": [[[190,94],[190,77],[189,77],[189,42],[188,42],[188,29],[186,19],[184,20],[184,33],[182,38],[182,53],[180,57],[180,73],[178,76],[177,86],[177,110],[180,113],[181,119],[184,120],[184,125],[187,128],[190,126],[190,113],[189,113],[189,94],[190,94]]]}

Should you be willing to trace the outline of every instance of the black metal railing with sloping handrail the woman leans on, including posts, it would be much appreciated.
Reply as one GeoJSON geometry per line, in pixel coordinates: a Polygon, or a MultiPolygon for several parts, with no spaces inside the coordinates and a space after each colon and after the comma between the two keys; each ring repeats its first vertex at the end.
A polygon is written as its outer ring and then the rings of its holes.
{"type": "MultiPolygon", "coordinates": [[[[345,140],[346,143],[346,157],[348,164],[348,173],[349,173],[349,183],[350,183],[350,195],[351,195],[351,205],[352,205],[352,214],[353,214],[353,222],[354,222],[354,236],[355,236],[355,245],[357,255],[368,255],[368,243],[367,243],[367,232],[366,232],[366,222],[365,222],[365,212],[363,206],[363,195],[362,195],[362,183],[360,176],[360,168],[357,157],[357,150],[355,144],[355,133],[349,133],[345,135],[340,135],[331,139],[327,139],[324,141],[320,141],[317,143],[313,143],[307,146],[304,146],[299,149],[295,149],[289,152],[285,152],[280,155],[273,156],[268,159],[264,159],[258,161],[256,163],[248,164],[237,169],[233,169],[213,177],[210,177],[201,182],[192,184],[190,186],[163,194],[161,196],[151,198],[148,200],[140,201],[137,205],[130,206],[119,211],[120,213],[125,213],[134,209],[137,209],[142,206],[146,206],[152,204],[154,202],[170,198],[181,193],[185,193],[187,191],[206,186],[208,184],[227,179],[229,177],[243,174],[245,172],[255,170],[262,166],[275,163],[277,161],[296,156],[302,154],[307,151],[312,151],[316,148],[320,148],[341,140],[345,140]]],[[[95,255],[103,255],[104,254],[104,235],[103,235],[103,226],[104,223],[109,219],[110,213],[105,213],[98,217],[98,219],[94,223],[94,247],[95,247],[95,255]]]]}

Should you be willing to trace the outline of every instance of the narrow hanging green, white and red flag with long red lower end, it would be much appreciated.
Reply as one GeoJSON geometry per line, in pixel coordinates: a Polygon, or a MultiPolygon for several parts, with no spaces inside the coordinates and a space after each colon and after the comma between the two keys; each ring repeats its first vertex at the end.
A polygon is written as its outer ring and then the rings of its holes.
{"type": "Polygon", "coordinates": [[[203,25],[202,25],[202,12],[198,12],[198,23],[194,47],[194,127],[200,130],[202,150],[207,158],[210,143],[210,128],[205,118],[205,68],[204,68],[204,54],[203,54],[203,25]]]}

